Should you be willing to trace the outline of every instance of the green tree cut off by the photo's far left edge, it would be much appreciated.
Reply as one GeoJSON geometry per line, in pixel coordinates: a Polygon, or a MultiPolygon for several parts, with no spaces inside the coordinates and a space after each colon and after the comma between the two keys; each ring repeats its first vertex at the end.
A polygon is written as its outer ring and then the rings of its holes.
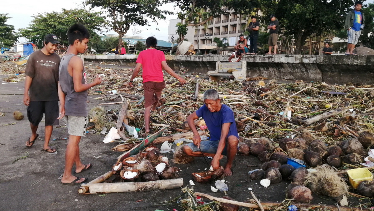
{"type": "Polygon", "coordinates": [[[18,36],[13,25],[5,24],[7,19],[11,18],[7,15],[8,13],[0,13],[0,47],[10,48],[17,42],[18,36]]]}

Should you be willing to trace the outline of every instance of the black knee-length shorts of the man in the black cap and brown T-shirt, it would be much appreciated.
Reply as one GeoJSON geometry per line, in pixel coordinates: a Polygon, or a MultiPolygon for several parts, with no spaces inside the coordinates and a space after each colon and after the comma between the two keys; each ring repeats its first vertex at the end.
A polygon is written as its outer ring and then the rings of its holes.
{"type": "Polygon", "coordinates": [[[53,126],[58,125],[57,117],[59,113],[58,101],[30,101],[27,106],[27,118],[34,126],[39,125],[45,114],[45,125],[53,126]]]}

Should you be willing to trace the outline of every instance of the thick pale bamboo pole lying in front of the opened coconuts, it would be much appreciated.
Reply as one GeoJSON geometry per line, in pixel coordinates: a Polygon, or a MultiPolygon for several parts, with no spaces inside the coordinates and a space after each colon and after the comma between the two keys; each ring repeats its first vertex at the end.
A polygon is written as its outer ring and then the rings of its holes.
{"type": "Polygon", "coordinates": [[[141,183],[99,183],[89,185],[90,193],[126,193],[150,190],[166,190],[183,187],[183,178],[141,183]]]}

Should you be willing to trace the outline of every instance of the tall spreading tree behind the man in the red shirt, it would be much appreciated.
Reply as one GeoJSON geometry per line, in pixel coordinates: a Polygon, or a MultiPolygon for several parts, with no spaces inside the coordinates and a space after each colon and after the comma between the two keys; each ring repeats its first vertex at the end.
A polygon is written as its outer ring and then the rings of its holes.
{"type": "Polygon", "coordinates": [[[86,0],[86,5],[100,7],[109,18],[109,27],[122,37],[133,25],[150,25],[148,19],[157,23],[157,19],[165,20],[164,14],[172,14],[167,10],[158,9],[163,1],[159,0],[86,0]]]}

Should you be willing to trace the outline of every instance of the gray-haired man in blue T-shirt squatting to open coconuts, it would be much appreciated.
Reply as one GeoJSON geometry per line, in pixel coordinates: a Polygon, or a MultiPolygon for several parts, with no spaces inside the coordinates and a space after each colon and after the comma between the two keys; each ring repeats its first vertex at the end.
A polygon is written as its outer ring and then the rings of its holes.
{"type": "Polygon", "coordinates": [[[187,117],[188,126],[194,136],[193,143],[183,146],[183,152],[188,156],[211,156],[213,169],[220,167],[220,159],[227,156],[224,166],[224,176],[232,175],[232,163],[239,143],[239,135],[236,130],[234,112],[227,105],[221,104],[221,99],[216,90],[206,90],[203,97],[205,105],[187,117]],[[209,141],[201,141],[196,130],[194,120],[202,117],[211,135],[209,141]],[[199,150],[201,149],[201,151],[199,150]]]}

